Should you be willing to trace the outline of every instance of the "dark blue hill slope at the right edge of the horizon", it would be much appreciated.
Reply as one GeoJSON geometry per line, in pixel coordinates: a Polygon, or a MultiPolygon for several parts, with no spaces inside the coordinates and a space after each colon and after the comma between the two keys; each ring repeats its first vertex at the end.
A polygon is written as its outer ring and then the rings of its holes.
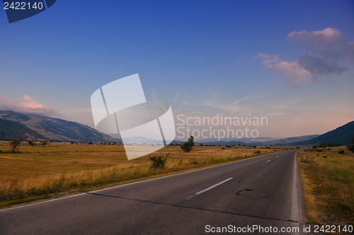
{"type": "Polygon", "coordinates": [[[319,135],[319,137],[312,138],[310,140],[295,143],[297,145],[309,145],[309,144],[319,144],[321,142],[348,145],[350,144],[350,139],[354,136],[354,121],[346,123],[346,125],[340,126],[333,131],[319,135]]]}

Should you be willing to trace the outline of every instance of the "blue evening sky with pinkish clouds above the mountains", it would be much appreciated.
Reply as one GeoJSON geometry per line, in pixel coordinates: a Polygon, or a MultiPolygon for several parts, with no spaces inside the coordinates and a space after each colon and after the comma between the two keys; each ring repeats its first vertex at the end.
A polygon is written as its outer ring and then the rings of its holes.
{"type": "Polygon", "coordinates": [[[0,109],[94,126],[90,97],[139,73],[185,116],[267,116],[261,136],[354,120],[353,1],[60,1],[0,11],[0,109]]]}

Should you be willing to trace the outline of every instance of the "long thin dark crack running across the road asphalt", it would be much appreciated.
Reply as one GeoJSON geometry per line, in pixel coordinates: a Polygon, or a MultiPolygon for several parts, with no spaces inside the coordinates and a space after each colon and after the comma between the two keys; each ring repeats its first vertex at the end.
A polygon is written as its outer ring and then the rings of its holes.
{"type": "Polygon", "coordinates": [[[188,207],[188,206],[185,206],[185,205],[159,203],[159,202],[153,202],[153,201],[149,201],[149,200],[140,200],[140,199],[135,199],[135,198],[125,198],[125,197],[122,197],[122,196],[105,195],[105,194],[101,194],[101,193],[87,193],[87,194],[98,195],[98,196],[108,197],[108,198],[120,198],[120,199],[125,199],[125,200],[135,200],[135,201],[141,202],[141,203],[152,203],[152,204],[157,204],[157,205],[170,205],[170,206],[173,206],[173,207],[179,207],[179,208],[185,208],[185,209],[204,210],[204,211],[219,212],[219,213],[224,213],[224,214],[229,214],[229,215],[239,215],[239,216],[252,217],[252,218],[258,218],[258,219],[269,219],[269,220],[282,221],[282,222],[295,222],[295,223],[298,223],[298,221],[294,221],[292,219],[276,219],[276,218],[261,217],[261,216],[256,216],[256,215],[244,215],[244,214],[239,214],[239,213],[234,213],[234,212],[227,212],[227,211],[222,211],[222,210],[212,210],[212,209],[205,209],[205,208],[198,208],[198,207],[188,207]]]}

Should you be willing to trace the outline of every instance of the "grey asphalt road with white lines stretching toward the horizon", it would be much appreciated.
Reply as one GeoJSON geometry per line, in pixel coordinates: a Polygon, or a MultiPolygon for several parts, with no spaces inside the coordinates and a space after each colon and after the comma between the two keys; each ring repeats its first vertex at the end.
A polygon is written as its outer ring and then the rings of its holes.
{"type": "Polygon", "coordinates": [[[295,152],[0,210],[0,234],[302,234],[295,152]]]}

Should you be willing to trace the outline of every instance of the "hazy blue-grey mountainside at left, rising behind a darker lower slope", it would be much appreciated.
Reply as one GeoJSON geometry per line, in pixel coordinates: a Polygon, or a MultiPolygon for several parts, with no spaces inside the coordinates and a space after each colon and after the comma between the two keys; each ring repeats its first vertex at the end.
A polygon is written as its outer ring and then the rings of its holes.
{"type": "MultiPolygon", "coordinates": [[[[10,110],[0,111],[0,119],[22,124],[45,140],[77,141],[77,142],[118,142],[117,139],[105,135],[94,128],[47,116],[36,114],[20,114],[10,110]]],[[[20,127],[20,126],[18,126],[20,127]]],[[[2,130],[2,128],[1,128],[2,130]]],[[[16,135],[14,136],[16,137],[16,135]]],[[[12,139],[12,138],[11,138],[12,139]]],[[[22,139],[20,136],[13,139],[22,139]]]]}

